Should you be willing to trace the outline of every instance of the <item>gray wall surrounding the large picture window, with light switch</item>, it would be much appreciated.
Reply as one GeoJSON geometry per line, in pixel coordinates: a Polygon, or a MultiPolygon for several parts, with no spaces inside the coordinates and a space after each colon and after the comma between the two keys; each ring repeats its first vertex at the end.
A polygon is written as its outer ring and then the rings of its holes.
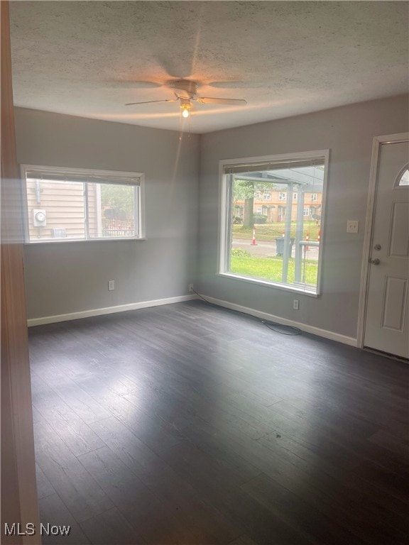
{"type": "Polygon", "coordinates": [[[356,337],[373,136],[408,131],[408,97],[363,102],[202,136],[199,289],[204,295],[356,337]],[[216,275],[221,159],[330,149],[322,295],[216,275]],[[359,233],[346,232],[347,219],[359,233]],[[300,310],[293,310],[293,299],[300,310]]]}

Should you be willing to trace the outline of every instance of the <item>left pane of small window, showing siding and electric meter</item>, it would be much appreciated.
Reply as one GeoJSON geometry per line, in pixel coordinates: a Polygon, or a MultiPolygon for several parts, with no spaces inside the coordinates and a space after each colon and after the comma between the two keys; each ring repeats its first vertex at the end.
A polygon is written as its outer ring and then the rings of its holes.
{"type": "Polygon", "coordinates": [[[30,241],[85,238],[84,184],[27,179],[30,241]]]}

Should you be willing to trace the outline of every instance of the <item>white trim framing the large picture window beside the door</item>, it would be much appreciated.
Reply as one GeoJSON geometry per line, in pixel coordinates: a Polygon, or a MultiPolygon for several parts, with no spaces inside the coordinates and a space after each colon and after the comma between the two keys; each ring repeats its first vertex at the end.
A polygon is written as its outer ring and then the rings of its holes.
{"type": "Polygon", "coordinates": [[[219,160],[219,229],[217,232],[217,276],[224,277],[226,279],[237,280],[239,282],[250,282],[253,285],[260,285],[263,287],[271,287],[273,289],[285,290],[286,292],[302,292],[310,297],[319,297],[321,294],[322,285],[322,260],[325,253],[325,246],[320,248],[320,255],[318,256],[318,275],[317,275],[317,290],[316,292],[310,292],[305,290],[305,287],[296,287],[292,285],[281,284],[279,282],[271,282],[268,280],[262,280],[252,277],[244,277],[235,275],[232,272],[226,272],[224,270],[226,261],[226,249],[227,249],[227,215],[228,209],[225,206],[227,203],[227,197],[229,196],[229,183],[227,182],[227,176],[224,176],[224,169],[228,165],[236,165],[238,163],[273,163],[275,161],[285,161],[293,159],[315,159],[318,157],[324,158],[324,180],[322,187],[322,203],[321,203],[321,227],[322,232],[325,233],[325,209],[327,203],[327,184],[328,184],[328,170],[329,170],[329,149],[327,150],[314,150],[303,151],[300,153],[283,153],[280,155],[261,155],[259,157],[244,157],[236,159],[222,159],[219,160]]]}

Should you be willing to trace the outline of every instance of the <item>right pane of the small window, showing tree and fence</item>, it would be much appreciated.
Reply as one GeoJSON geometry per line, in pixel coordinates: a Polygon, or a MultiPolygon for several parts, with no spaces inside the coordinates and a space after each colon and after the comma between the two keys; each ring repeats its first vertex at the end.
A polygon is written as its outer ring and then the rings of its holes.
{"type": "Polygon", "coordinates": [[[135,186],[94,183],[87,186],[89,238],[136,236],[135,186]]]}

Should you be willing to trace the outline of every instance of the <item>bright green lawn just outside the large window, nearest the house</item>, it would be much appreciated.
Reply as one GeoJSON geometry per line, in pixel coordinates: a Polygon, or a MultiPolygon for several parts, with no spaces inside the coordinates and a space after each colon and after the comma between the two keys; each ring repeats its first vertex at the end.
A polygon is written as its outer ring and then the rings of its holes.
{"type": "MultiPolygon", "coordinates": [[[[288,260],[287,282],[294,282],[294,258],[288,260]]],[[[318,262],[315,260],[302,260],[302,274],[305,270],[305,282],[310,285],[317,285],[318,262]]],[[[230,271],[237,275],[251,276],[263,280],[283,282],[283,258],[280,256],[272,258],[256,258],[239,255],[231,255],[230,271]]]]}

